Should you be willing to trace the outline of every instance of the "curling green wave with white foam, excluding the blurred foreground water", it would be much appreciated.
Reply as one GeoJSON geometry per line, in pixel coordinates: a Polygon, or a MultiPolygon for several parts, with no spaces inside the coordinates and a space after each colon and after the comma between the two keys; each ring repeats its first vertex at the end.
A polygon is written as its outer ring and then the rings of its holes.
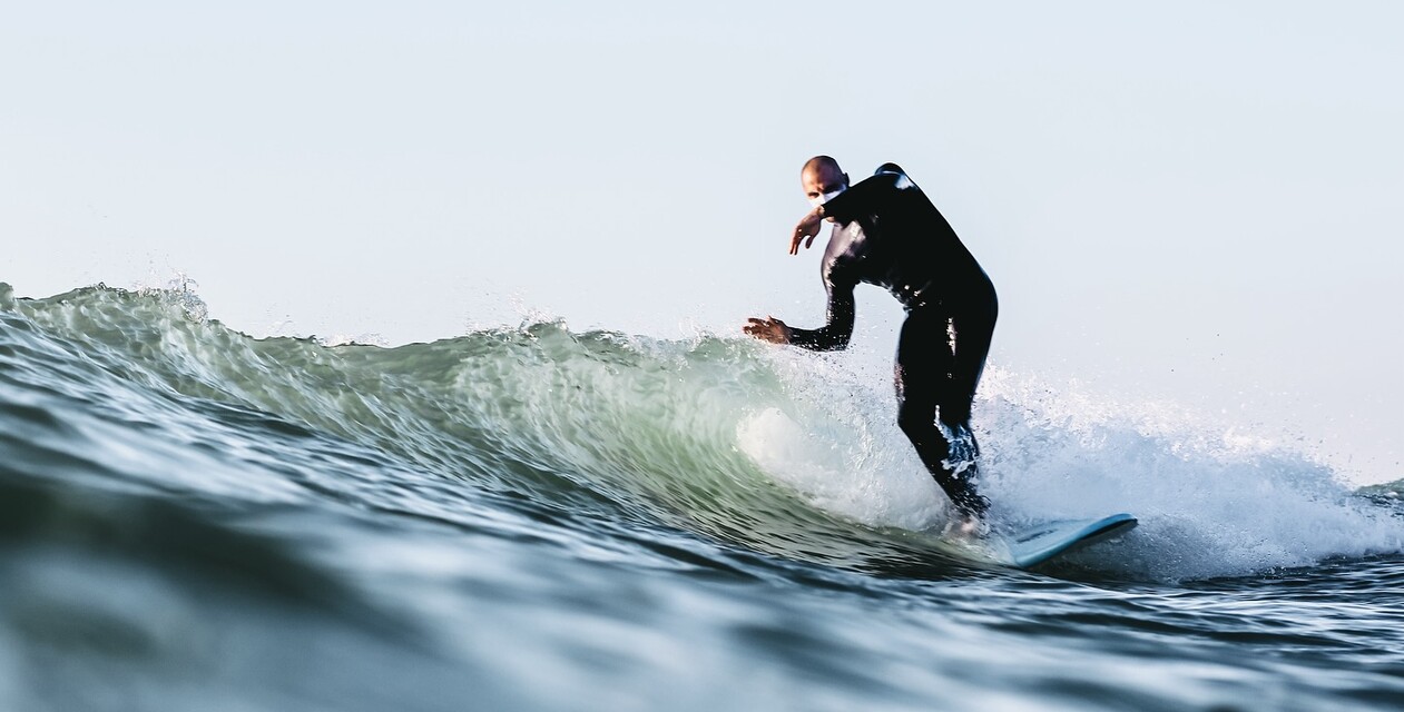
{"type": "MultiPolygon", "coordinates": [[[[890,376],[740,338],[562,322],[397,348],[256,339],[190,290],[42,300],[0,285],[0,449],[27,477],[350,506],[458,526],[521,502],[580,541],[611,523],[783,561],[951,563],[946,505],[890,376]]],[[[1289,444],[991,367],[976,405],[1005,524],[1127,510],[1070,572],[1233,576],[1398,552],[1393,510],[1289,444]]]]}

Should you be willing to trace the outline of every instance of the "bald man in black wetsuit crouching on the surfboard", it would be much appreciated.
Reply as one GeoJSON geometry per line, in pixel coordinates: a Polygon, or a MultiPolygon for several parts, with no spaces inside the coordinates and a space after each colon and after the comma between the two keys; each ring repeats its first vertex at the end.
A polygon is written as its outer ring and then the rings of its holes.
{"type": "Polygon", "coordinates": [[[828,321],[799,329],[774,317],[751,318],[743,331],[772,343],[842,349],[854,334],[854,287],[862,282],[892,292],[907,310],[894,369],[897,425],[974,526],[990,500],[974,489],[980,450],[970,404],[998,314],[994,285],[897,164],[883,164],[849,188],[838,161],[816,156],[800,171],[800,185],[814,209],[795,227],[790,254],[799,254],[802,241],[806,249],[814,242],[820,220],[834,223],[820,265],[828,321]]]}

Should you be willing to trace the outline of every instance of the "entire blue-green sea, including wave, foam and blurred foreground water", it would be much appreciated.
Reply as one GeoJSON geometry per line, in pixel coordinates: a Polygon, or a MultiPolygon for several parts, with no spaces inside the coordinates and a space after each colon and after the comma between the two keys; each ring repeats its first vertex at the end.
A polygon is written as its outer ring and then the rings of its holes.
{"type": "Polygon", "coordinates": [[[1401,709],[1400,484],[987,371],[942,537],[890,373],[560,322],[254,339],[0,283],[0,709],[1401,709]]]}

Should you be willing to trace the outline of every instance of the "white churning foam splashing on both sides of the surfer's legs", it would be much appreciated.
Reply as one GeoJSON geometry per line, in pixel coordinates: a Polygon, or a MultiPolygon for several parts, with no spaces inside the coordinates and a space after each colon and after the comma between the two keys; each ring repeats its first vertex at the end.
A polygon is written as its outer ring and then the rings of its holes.
{"type": "MultiPolygon", "coordinates": [[[[790,412],[753,415],[740,446],[814,506],[929,528],[946,503],[894,423],[890,376],[786,355],[790,412]]],[[[1292,437],[1163,402],[1118,402],[990,367],[976,402],[981,492],[1005,526],[1130,512],[1140,527],[1085,565],[1185,579],[1404,548],[1404,521],[1352,493],[1292,437]]]]}

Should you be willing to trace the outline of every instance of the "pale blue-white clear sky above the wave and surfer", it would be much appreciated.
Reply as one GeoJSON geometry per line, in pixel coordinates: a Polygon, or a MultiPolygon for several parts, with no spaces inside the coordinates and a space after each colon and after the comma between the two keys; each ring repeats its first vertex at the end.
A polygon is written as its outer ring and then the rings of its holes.
{"type": "Polygon", "coordinates": [[[800,164],[897,161],[995,282],[994,363],[1404,477],[1404,6],[4,6],[0,280],[390,343],[814,325],[800,164]]]}

